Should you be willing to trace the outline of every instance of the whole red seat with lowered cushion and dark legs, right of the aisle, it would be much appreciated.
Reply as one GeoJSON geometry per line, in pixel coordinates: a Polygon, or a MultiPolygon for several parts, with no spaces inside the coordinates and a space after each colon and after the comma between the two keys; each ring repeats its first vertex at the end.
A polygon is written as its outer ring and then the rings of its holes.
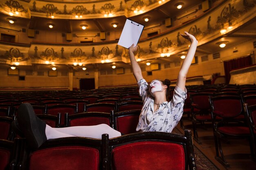
{"type": "MultiPolygon", "coordinates": [[[[216,148],[215,159],[222,163],[225,167],[229,166],[224,153],[222,152],[221,139],[236,137],[237,139],[248,138],[251,135],[249,127],[245,122],[245,119],[239,119],[238,117],[244,117],[243,102],[241,96],[210,96],[211,104],[211,117],[213,119],[213,135],[216,148]],[[242,116],[241,116],[242,115],[242,116]],[[221,117],[221,120],[216,120],[216,117],[221,117]],[[220,155],[219,155],[220,153],[220,155]]],[[[251,153],[253,155],[252,141],[249,140],[251,153]]]]}

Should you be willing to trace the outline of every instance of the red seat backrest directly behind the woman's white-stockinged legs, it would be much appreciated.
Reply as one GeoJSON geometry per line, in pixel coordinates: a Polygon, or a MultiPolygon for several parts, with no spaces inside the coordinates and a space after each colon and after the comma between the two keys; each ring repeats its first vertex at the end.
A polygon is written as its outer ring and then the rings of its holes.
{"type": "Polygon", "coordinates": [[[107,124],[111,126],[110,113],[85,112],[75,115],[65,114],[65,126],[94,126],[107,124]]]}

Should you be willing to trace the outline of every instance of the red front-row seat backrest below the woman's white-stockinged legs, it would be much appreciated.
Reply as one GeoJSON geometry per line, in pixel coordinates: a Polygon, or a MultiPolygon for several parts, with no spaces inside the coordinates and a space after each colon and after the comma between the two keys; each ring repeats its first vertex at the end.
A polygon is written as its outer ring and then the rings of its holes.
{"type": "Polygon", "coordinates": [[[23,148],[27,157],[18,165],[27,170],[99,170],[101,140],[86,137],[65,137],[47,140],[40,148],[23,148]]]}

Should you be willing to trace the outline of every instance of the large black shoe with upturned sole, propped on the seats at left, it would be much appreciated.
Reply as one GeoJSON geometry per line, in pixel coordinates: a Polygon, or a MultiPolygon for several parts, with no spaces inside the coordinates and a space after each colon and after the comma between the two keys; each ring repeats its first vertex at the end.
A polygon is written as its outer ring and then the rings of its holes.
{"type": "Polygon", "coordinates": [[[39,119],[31,104],[24,103],[18,108],[18,125],[31,148],[39,148],[46,140],[44,121],[39,119]]]}

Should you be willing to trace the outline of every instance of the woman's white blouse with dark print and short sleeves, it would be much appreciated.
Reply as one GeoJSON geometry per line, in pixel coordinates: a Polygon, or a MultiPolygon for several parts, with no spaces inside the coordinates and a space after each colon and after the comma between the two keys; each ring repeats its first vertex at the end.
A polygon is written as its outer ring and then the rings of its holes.
{"type": "Polygon", "coordinates": [[[143,107],[139,115],[139,123],[136,130],[139,132],[159,131],[172,132],[177,126],[183,114],[184,100],[186,99],[186,88],[182,91],[175,87],[173,99],[164,102],[154,112],[154,97],[148,92],[148,83],[145,79],[140,79],[139,95],[143,101],[143,107]]]}

